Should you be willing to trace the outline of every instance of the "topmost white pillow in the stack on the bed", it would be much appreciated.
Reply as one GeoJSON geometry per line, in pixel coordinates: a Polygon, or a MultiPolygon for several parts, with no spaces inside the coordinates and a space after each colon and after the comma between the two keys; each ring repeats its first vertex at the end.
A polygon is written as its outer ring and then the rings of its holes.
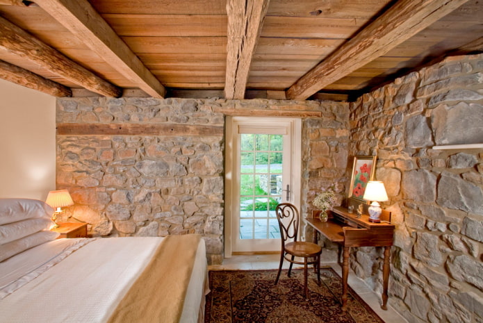
{"type": "Polygon", "coordinates": [[[32,217],[48,217],[54,209],[38,199],[0,199],[0,225],[32,217]]]}

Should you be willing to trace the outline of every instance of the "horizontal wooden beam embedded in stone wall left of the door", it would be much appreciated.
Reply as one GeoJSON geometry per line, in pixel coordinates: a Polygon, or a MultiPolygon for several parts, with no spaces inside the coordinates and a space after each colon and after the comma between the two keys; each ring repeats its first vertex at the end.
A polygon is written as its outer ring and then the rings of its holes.
{"type": "Polygon", "coordinates": [[[223,126],[193,124],[57,124],[58,135],[223,135],[223,126]]]}

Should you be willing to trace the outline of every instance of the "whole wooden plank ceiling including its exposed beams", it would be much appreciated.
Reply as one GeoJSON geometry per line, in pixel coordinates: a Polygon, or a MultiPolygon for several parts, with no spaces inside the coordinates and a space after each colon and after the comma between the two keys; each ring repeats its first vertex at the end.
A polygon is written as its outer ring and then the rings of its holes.
{"type": "Polygon", "coordinates": [[[480,0],[0,0],[0,16],[0,77],[58,97],[347,100],[483,49],[480,0]]]}

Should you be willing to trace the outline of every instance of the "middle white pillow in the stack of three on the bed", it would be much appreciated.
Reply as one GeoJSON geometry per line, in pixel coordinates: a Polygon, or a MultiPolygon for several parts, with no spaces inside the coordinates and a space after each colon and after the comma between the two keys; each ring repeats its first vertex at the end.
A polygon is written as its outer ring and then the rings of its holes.
{"type": "Polygon", "coordinates": [[[47,217],[35,217],[0,226],[0,245],[24,238],[37,231],[48,230],[54,222],[47,217]]]}

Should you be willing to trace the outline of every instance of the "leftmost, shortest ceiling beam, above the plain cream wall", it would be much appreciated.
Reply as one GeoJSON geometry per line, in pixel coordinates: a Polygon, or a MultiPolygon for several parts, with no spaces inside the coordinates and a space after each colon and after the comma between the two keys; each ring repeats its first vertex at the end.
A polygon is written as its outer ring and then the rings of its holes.
{"type": "Polygon", "coordinates": [[[72,90],[27,71],[21,67],[0,60],[0,78],[18,85],[47,93],[54,97],[72,97],[72,90]]]}

